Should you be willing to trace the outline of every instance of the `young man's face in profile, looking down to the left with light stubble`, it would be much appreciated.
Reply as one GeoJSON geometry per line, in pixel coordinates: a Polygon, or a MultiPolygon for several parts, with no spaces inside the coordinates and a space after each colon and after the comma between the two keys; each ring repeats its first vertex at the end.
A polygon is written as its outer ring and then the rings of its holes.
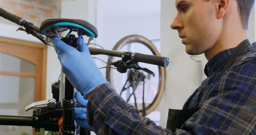
{"type": "Polygon", "coordinates": [[[178,30],[186,53],[198,55],[213,48],[220,37],[216,0],[176,0],[177,15],[171,28],[178,30]],[[215,2],[215,3],[214,3],[215,2]]]}

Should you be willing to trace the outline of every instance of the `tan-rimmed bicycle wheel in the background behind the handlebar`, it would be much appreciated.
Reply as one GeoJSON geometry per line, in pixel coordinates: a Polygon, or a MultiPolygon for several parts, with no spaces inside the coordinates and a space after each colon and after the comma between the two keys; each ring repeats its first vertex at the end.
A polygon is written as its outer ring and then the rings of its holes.
{"type": "MultiPolygon", "coordinates": [[[[152,42],[139,35],[122,38],[113,50],[160,56],[152,42]]],[[[112,56],[110,60],[115,62],[120,58],[112,56]]],[[[108,63],[110,63],[109,60],[108,63]]],[[[116,69],[107,68],[106,78],[124,100],[137,107],[142,116],[146,116],[157,107],[162,97],[165,85],[165,68],[140,62],[139,65],[153,71],[155,77],[135,69],[128,69],[126,73],[119,73],[116,69]]]]}

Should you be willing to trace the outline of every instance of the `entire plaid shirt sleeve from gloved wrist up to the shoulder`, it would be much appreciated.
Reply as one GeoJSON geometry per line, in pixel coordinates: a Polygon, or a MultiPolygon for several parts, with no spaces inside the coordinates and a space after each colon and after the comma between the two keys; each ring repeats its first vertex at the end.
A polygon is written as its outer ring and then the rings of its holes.
{"type": "Polygon", "coordinates": [[[88,102],[88,124],[98,135],[255,134],[255,66],[254,61],[229,71],[219,82],[223,87],[212,86],[216,87],[212,93],[220,92],[219,95],[207,99],[175,133],[142,117],[108,83],[99,87],[88,102]],[[242,69],[247,70],[241,72],[242,69]]]}

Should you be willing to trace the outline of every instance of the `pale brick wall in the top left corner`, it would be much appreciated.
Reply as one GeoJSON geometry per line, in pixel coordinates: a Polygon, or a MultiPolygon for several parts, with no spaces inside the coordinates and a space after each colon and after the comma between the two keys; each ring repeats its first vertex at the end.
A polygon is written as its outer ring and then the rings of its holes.
{"type": "MultiPolygon", "coordinates": [[[[61,0],[0,0],[0,7],[39,27],[45,19],[60,17],[60,2],[61,0]]],[[[14,24],[2,17],[0,22],[14,24]]]]}

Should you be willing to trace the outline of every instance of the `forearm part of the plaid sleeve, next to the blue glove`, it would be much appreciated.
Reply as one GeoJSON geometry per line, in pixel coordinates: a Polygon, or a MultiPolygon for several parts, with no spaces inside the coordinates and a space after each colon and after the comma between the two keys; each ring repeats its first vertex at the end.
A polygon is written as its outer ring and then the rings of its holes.
{"type": "Polygon", "coordinates": [[[87,104],[87,121],[97,135],[172,135],[126,103],[109,83],[101,85],[87,104]]]}

